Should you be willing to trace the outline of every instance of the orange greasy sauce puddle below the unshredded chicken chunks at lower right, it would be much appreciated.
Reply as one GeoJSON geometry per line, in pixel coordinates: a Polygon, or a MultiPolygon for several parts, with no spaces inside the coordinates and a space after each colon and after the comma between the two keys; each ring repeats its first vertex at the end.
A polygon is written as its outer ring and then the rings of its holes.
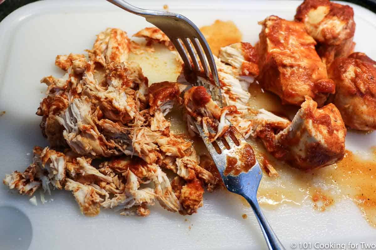
{"type": "MultiPolygon", "coordinates": [[[[278,177],[264,174],[258,190],[262,207],[302,205],[311,202],[312,208],[325,211],[341,199],[351,199],[358,205],[364,218],[376,227],[376,154],[364,160],[351,151],[344,159],[331,166],[303,172],[279,162],[265,152],[260,142],[250,141],[256,158],[262,163],[264,154],[277,170],[278,177]]],[[[332,209],[340,209],[332,208],[332,209]]]]}

